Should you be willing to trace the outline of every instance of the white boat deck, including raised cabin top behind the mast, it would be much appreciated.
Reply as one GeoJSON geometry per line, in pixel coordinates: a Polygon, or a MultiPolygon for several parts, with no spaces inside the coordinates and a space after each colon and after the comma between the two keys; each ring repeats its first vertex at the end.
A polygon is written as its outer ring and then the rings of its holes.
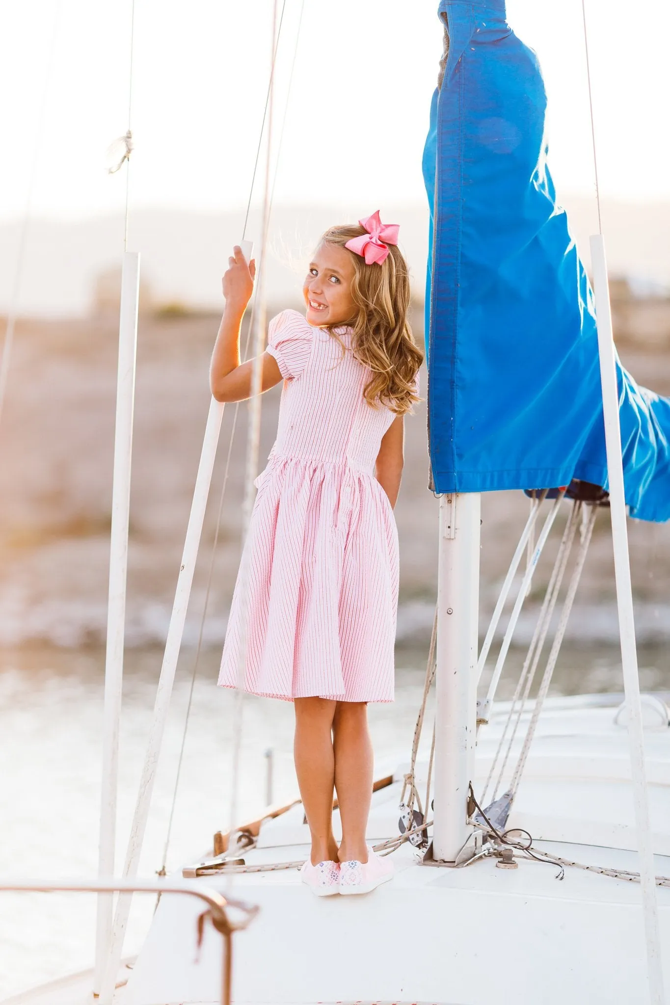
{"type": "MultiPolygon", "coordinates": [[[[636,869],[626,731],[612,708],[549,703],[509,826],[542,850],[585,863],[636,869]],[[548,842],[548,843],[547,843],[548,842]],[[569,843],[568,843],[569,842],[569,843]]],[[[498,725],[482,731],[478,784],[498,725]]],[[[670,730],[647,733],[658,872],[670,875],[670,730]]],[[[402,767],[399,777],[402,775],[402,767]]],[[[397,833],[400,784],[374,799],[369,837],[397,833]]],[[[246,861],[306,855],[301,807],[263,825],[246,861]]],[[[640,886],[519,857],[516,870],[483,860],[452,869],[419,864],[405,845],[394,880],[361,897],[312,896],[295,871],[207,876],[203,882],[258,903],[234,939],[240,1005],[643,1005],[646,957],[640,886]]],[[[659,888],[670,989],[670,888],[659,888]]],[[[164,896],[124,1005],[215,1002],[220,937],[208,929],[196,960],[199,908],[164,896]]],[[[668,998],[670,1003],[670,997],[668,998]]]]}

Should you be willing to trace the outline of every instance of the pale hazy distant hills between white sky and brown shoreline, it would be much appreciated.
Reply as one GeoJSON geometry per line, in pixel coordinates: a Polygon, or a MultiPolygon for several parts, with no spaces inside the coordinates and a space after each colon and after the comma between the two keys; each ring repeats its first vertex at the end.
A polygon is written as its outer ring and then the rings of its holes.
{"type": "MultiPolygon", "coordinates": [[[[561,201],[589,268],[589,237],[598,231],[596,200],[566,192],[561,201]]],[[[337,200],[318,205],[275,205],[267,254],[268,299],[285,307],[299,295],[306,262],[319,234],[333,223],[357,220],[365,209],[358,203],[337,200]]],[[[410,265],[414,295],[423,298],[428,207],[424,202],[387,201],[381,209],[385,220],[400,224],[401,247],[410,265]]],[[[670,201],[604,197],[602,221],[612,275],[629,282],[636,296],[667,296],[670,201]]],[[[143,283],[156,304],[215,311],[230,249],[244,229],[241,209],[198,213],[137,207],[131,218],[128,247],[141,252],[143,283]]],[[[0,313],[11,301],[21,230],[20,220],[0,221],[0,313]]],[[[258,246],[260,233],[260,207],[252,206],[246,234],[258,246]]],[[[121,214],[31,219],[21,275],[21,314],[85,318],[95,301],[100,277],[120,267],[123,249],[121,214]]]]}

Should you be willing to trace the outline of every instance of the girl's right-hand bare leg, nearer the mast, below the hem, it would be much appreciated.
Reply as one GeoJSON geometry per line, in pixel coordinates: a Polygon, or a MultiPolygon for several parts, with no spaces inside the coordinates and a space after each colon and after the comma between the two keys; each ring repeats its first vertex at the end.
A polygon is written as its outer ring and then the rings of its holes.
{"type": "Polygon", "coordinates": [[[332,723],[334,782],[342,818],[340,861],[368,861],[366,828],[373,794],[373,746],[365,701],[338,701],[332,723]]]}

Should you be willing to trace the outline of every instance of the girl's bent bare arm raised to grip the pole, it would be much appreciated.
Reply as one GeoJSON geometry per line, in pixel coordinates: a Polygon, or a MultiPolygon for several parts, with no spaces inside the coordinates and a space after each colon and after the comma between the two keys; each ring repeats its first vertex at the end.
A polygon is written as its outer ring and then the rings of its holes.
{"type": "MultiPolygon", "coordinates": [[[[210,389],[217,401],[244,401],[251,395],[253,360],[240,364],[240,329],[253,292],[256,263],[251,259],[247,265],[237,245],[233,250],[234,256],[228,259],[228,271],[223,277],[226,306],[209,368],[210,389]]],[[[260,362],[261,391],[267,391],[282,378],[276,360],[268,353],[263,353],[260,362]]]]}

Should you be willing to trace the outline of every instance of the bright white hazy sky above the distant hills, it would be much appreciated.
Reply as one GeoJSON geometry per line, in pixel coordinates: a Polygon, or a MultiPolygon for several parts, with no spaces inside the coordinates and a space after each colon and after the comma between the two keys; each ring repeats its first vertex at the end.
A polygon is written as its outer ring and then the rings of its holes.
{"type": "MultiPolygon", "coordinates": [[[[0,219],[22,213],[36,144],[34,214],[121,209],[124,171],[105,174],[105,150],[127,128],[131,0],[1,3],[0,219]]],[[[300,4],[286,0],[275,153],[300,4]]],[[[423,200],[421,151],[441,51],[436,9],[436,0],[305,0],[277,202],[372,212],[423,200]]],[[[271,0],[136,0],[132,206],[246,201],[271,10],[271,0]]],[[[591,193],[581,0],[508,0],[507,10],[543,66],[559,188],[591,193]]],[[[602,189],[670,199],[670,4],[587,0],[587,12],[602,189]]]]}

